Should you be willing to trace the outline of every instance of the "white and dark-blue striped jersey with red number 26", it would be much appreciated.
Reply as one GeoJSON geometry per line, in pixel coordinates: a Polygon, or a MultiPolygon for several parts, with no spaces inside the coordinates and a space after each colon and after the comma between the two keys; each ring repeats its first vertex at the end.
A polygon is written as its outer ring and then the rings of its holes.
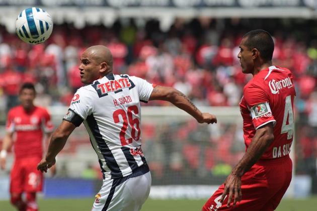
{"type": "Polygon", "coordinates": [[[108,74],[81,87],[72,98],[65,121],[84,122],[104,178],[119,178],[147,167],[141,150],[140,101],[153,85],[129,75],[108,74]]]}

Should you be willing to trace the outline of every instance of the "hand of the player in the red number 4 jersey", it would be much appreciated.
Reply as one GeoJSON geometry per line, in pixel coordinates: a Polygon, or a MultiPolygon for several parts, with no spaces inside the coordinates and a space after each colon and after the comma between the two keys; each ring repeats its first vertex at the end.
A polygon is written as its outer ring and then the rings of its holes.
{"type": "Polygon", "coordinates": [[[220,203],[223,202],[225,196],[229,194],[227,207],[230,206],[232,201],[232,196],[234,196],[233,206],[236,204],[237,201],[241,201],[242,199],[242,192],[241,192],[241,177],[231,174],[226,178],[224,182],[224,191],[220,198],[220,203]]]}

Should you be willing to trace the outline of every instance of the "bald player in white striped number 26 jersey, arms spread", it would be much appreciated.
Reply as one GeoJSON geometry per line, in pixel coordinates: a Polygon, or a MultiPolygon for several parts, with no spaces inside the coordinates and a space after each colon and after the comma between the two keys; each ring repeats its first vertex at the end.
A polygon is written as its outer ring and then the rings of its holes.
{"type": "Polygon", "coordinates": [[[92,46],[82,54],[79,69],[87,85],[74,94],[38,169],[46,172],[54,165],[68,136],[84,122],[104,177],[92,210],[140,210],[151,185],[141,150],[140,101],[167,100],[199,123],[217,120],[214,115],[201,113],[180,91],[135,76],[115,75],[112,65],[111,52],[105,46],[92,46]]]}

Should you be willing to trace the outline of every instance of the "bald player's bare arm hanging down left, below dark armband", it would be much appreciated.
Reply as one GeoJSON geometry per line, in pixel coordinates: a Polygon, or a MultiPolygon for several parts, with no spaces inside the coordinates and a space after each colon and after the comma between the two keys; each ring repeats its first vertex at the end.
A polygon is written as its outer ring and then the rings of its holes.
{"type": "Polygon", "coordinates": [[[46,156],[37,165],[37,170],[40,170],[41,172],[47,172],[47,169],[55,164],[56,155],[63,149],[68,136],[75,128],[76,126],[74,126],[72,123],[62,121],[62,123],[53,133],[51,141],[48,145],[46,156]]]}

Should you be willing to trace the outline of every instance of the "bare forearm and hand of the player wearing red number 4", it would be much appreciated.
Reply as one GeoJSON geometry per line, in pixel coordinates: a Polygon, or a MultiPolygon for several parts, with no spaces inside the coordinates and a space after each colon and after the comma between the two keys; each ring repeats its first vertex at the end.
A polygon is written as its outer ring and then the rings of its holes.
{"type": "Polygon", "coordinates": [[[220,199],[221,203],[227,194],[229,194],[227,206],[230,206],[232,196],[234,196],[233,205],[235,205],[237,201],[241,200],[242,175],[244,175],[260,159],[273,140],[274,135],[272,123],[268,123],[256,131],[247,152],[233,168],[232,172],[224,182],[225,187],[220,199]]]}

